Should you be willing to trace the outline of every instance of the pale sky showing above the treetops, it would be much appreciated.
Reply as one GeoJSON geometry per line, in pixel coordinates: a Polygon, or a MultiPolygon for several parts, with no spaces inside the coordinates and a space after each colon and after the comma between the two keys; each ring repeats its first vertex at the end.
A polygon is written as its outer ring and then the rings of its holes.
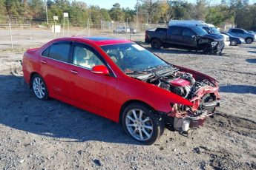
{"type": "MultiPolygon", "coordinates": [[[[88,5],[99,5],[101,8],[111,9],[113,7],[113,4],[118,2],[121,4],[121,7],[129,7],[131,9],[134,9],[135,4],[137,3],[137,0],[76,0],[76,1],[84,1],[88,5]]],[[[189,2],[194,3],[196,0],[188,0],[189,2]]],[[[211,3],[212,4],[218,4],[221,0],[214,0],[211,3]]],[[[256,0],[250,0],[251,3],[256,3],[256,0]]]]}

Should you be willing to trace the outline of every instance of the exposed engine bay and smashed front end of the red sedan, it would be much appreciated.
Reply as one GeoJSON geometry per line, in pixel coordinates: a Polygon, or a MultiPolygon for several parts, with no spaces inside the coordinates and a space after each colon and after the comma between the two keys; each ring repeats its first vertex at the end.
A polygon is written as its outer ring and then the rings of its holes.
{"type": "Polygon", "coordinates": [[[193,103],[193,106],[171,103],[172,111],[168,113],[167,119],[174,129],[186,132],[189,127],[202,126],[203,120],[214,114],[216,106],[226,103],[226,99],[220,99],[217,84],[208,78],[193,76],[176,67],[168,69],[168,72],[166,68],[159,71],[151,69],[151,75],[145,74],[136,78],[173,92],[193,103]]]}

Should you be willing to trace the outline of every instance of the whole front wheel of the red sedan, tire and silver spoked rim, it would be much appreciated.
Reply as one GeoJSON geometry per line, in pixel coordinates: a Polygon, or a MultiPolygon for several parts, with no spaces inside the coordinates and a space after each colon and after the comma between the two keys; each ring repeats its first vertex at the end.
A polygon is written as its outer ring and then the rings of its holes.
{"type": "Polygon", "coordinates": [[[122,126],[128,136],[147,145],[153,144],[164,131],[164,123],[141,103],[132,103],[124,109],[122,126]]]}

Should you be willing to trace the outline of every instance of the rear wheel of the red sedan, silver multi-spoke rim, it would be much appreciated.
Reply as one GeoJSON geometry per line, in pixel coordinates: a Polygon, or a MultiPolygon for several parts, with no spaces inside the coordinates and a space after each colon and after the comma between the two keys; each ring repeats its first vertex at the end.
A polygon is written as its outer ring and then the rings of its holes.
{"type": "Polygon", "coordinates": [[[45,84],[44,79],[40,75],[38,74],[33,75],[33,78],[31,79],[31,87],[33,89],[34,94],[36,95],[36,98],[43,101],[46,101],[49,98],[47,86],[45,84]],[[39,81],[39,80],[42,81],[41,87],[39,87],[40,83],[39,84],[36,83],[36,81],[39,81]],[[39,93],[41,93],[41,95],[39,95],[39,93]]]}

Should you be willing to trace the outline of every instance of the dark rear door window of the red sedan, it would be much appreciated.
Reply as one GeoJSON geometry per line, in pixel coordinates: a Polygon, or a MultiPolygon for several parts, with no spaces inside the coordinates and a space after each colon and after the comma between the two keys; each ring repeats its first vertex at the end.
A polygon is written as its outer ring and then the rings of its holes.
{"type": "Polygon", "coordinates": [[[53,58],[58,61],[68,62],[68,55],[70,52],[70,44],[52,44],[49,50],[49,58],[53,58]]]}

